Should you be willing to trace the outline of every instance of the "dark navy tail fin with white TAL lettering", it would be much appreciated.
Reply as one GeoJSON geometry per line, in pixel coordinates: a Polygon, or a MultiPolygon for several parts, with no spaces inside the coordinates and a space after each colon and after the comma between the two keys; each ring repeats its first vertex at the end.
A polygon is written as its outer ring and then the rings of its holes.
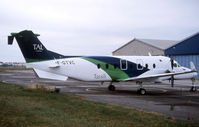
{"type": "Polygon", "coordinates": [[[8,44],[11,45],[15,38],[27,63],[63,57],[63,55],[47,50],[37,36],[39,34],[28,30],[11,33],[11,36],[8,36],[8,44]]]}

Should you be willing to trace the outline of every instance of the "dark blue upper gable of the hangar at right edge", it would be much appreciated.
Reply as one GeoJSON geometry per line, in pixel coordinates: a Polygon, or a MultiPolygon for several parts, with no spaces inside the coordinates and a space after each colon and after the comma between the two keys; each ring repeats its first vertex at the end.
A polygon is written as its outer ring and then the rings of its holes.
{"type": "Polygon", "coordinates": [[[165,55],[199,55],[199,32],[167,48],[165,55]]]}

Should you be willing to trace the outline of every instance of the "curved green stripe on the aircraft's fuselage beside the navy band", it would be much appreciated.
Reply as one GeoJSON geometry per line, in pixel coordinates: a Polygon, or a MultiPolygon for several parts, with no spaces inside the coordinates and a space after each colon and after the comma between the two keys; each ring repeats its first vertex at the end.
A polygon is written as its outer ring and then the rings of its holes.
{"type": "Polygon", "coordinates": [[[99,60],[95,60],[92,58],[87,58],[87,57],[82,57],[83,59],[93,63],[96,65],[97,68],[97,64],[100,64],[100,68],[103,69],[110,77],[113,81],[122,81],[124,79],[129,78],[129,76],[122,71],[120,68],[114,68],[113,65],[99,61],[99,60]],[[106,68],[106,64],[108,64],[108,69],[106,68]]]}

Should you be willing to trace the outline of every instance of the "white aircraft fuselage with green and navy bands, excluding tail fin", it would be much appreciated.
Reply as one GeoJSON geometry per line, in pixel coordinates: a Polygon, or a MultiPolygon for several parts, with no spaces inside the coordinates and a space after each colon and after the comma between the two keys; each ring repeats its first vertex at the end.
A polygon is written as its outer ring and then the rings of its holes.
{"type": "MultiPolygon", "coordinates": [[[[46,71],[49,73],[66,76],[82,81],[114,81],[117,78],[123,79],[127,76],[137,77],[170,72],[189,71],[189,68],[180,66],[174,61],[174,68],[171,68],[170,58],[164,56],[107,56],[103,58],[108,61],[108,65],[100,56],[89,60],[84,57],[55,59],[43,62],[27,63],[27,67],[46,71]],[[109,60],[110,58],[110,60],[109,60]],[[101,61],[100,61],[101,60],[101,61]],[[118,61],[116,61],[118,60],[118,61]],[[92,61],[92,62],[91,62],[92,61]],[[115,63],[114,63],[115,62],[115,63]],[[130,65],[132,63],[132,65],[130,65]],[[100,66],[100,67],[98,67],[100,66]],[[108,66],[108,67],[107,67],[108,66]],[[113,66],[117,66],[115,69],[113,66]],[[147,69],[147,71],[143,71],[147,69]],[[122,73],[120,73],[122,72],[122,73]]],[[[175,75],[175,79],[192,78],[197,73],[175,75]]],[[[157,81],[170,79],[168,77],[158,78],[157,81]]]]}

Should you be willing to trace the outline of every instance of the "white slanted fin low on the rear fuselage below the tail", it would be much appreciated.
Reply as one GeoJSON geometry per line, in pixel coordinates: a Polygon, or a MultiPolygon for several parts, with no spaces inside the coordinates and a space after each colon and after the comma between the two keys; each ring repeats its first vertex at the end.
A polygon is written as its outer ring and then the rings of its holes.
{"type": "Polygon", "coordinates": [[[68,77],[62,76],[62,75],[57,75],[53,74],[50,72],[34,69],[34,72],[39,78],[46,78],[46,79],[53,79],[53,80],[61,80],[61,81],[66,81],[68,77]]]}

